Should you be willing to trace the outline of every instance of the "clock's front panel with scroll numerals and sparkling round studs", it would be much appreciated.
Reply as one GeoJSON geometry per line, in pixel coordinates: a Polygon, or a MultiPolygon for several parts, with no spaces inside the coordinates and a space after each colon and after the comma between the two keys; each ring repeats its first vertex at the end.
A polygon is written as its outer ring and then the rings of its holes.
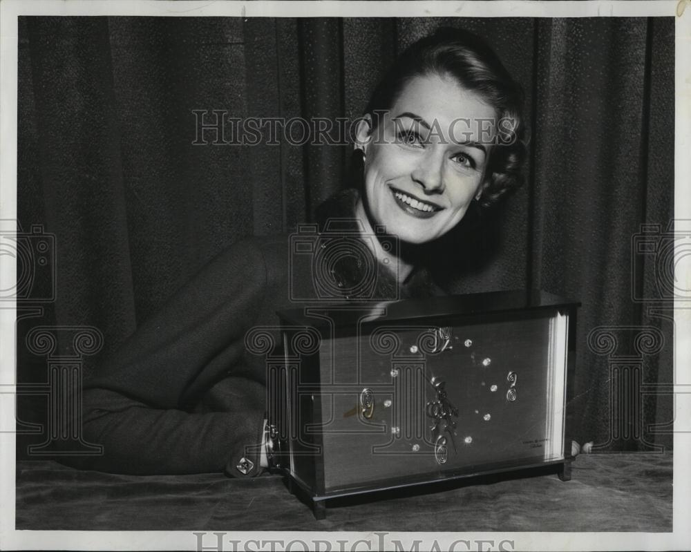
{"type": "Polygon", "coordinates": [[[323,344],[323,455],[339,466],[327,480],[560,459],[566,329],[558,312],[522,312],[323,344]]]}

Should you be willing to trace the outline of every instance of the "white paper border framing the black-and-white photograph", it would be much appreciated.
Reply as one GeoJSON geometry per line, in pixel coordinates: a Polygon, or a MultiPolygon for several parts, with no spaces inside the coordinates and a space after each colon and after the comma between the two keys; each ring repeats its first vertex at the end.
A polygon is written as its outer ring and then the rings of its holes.
{"type": "MultiPolygon", "coordinates": [[[[21,15],[140,15],[159,17],[676,17],[676,104],[674,216],[691,219],[691,0],[661,1],[169,1],[3,0],[0,2],[0,220],[17,218],[17,18],[21,15]]],[[[676,260],[681,260],[677,251],[676,260]]],[[[14,261],[0,258],[0,289],[16,282],[14,261]]],[[[680,262],[676,278],[691,282],[680,262]]],[[[690,289],[687,285],[685,289],[690,289]]],[[[0,429],[15,422],[15,311],[0,309],[0,429]],[[10,394],[6,392],[10,391],[10,394]]],[[[675,420],[691,419],[691,309],[675,303],[675,420]]],[[[16,531],[15,434],[0,432],[0,549],[2,550],[196,550],[193,531],[16,531]]],[[[420,549],[437,542],[445,549],[458,539],[513,541],[514,550],[685,550],[691,548],[691,434],[674,434],[672,533],[386,533],[420,549]]],[[[594,505],[596,506],[596,505],[594,505]]],[[[209,532],[209,534],[213,534],[209,532]]],[[[256,538],[227,533],[225,541],[256,538]]],[[[263,539],[377,543],[376,533],[264,531],[263,539]]],[[[238,546],[238,549],[242,549],[238,546]]],[[[334,548],[335,550],[336,548],[334,548]]],[[[350,548],[348,548],[350,549],[350,548]]],[[[363,549],[363,548],[358,548],[363,549]]]]}

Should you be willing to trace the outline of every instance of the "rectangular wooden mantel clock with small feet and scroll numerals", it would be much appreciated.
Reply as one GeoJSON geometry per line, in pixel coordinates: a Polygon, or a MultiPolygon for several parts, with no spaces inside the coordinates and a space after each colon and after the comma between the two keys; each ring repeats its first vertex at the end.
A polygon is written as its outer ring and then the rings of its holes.
{"type": "Polygon", "coordinates": [[[278,312],[274,465],[316,517],[334,497],[505,470],[569,479],[578,306],[529,290],[278,312]]]}

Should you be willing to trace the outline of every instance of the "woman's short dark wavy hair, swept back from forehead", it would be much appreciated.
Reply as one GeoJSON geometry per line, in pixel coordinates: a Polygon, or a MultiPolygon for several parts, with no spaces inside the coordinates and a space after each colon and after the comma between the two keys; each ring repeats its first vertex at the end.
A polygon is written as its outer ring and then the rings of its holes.
{"type": "Polygon", "coordinates": [[[501,125],[500,143],[491,149],[479,200],[482,207],[489,207],[523,183],[523,89],[484,39],[466,30],[442,27],[408,46],[384,75],[365,110],[372,123],[376,126],[376,112],[388,111],[410,79],[430,74],[453,77],[495,108],[498,121],[513,122],[501,125]]]}

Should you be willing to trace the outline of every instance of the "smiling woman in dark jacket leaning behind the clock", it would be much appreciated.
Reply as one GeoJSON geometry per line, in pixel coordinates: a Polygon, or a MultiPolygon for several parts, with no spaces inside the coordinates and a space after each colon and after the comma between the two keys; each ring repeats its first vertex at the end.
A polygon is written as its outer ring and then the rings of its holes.
{"type": "Polygon", "coordinates": [[[250,450],[263,435],[265,365],[245,349],[248,330],[275,326],[276,310],[308,298],[441,293],[422,266],[430,244],[473,201],[489,206],[520,185],[521,101],[520,86],[474,35],[442,29],[410,46],[357,127],[359,182],[318,213],[317,241],[337,243],[322,239],[333,231],[329,221],[350,219],[347,230],[357,229],[377,259],[375,272],[368,276],[367,263],[352,254],[315,271],[314,256],[299,255],[285,236],[233,245],[86,382],[84,435],[104,455],[79,466],[260,473],[263,462],[250,450]],[[361,285],[363,277],[372,285],[361,285]],[[337,291],[324,297],[323,289],[337,291]]]}

